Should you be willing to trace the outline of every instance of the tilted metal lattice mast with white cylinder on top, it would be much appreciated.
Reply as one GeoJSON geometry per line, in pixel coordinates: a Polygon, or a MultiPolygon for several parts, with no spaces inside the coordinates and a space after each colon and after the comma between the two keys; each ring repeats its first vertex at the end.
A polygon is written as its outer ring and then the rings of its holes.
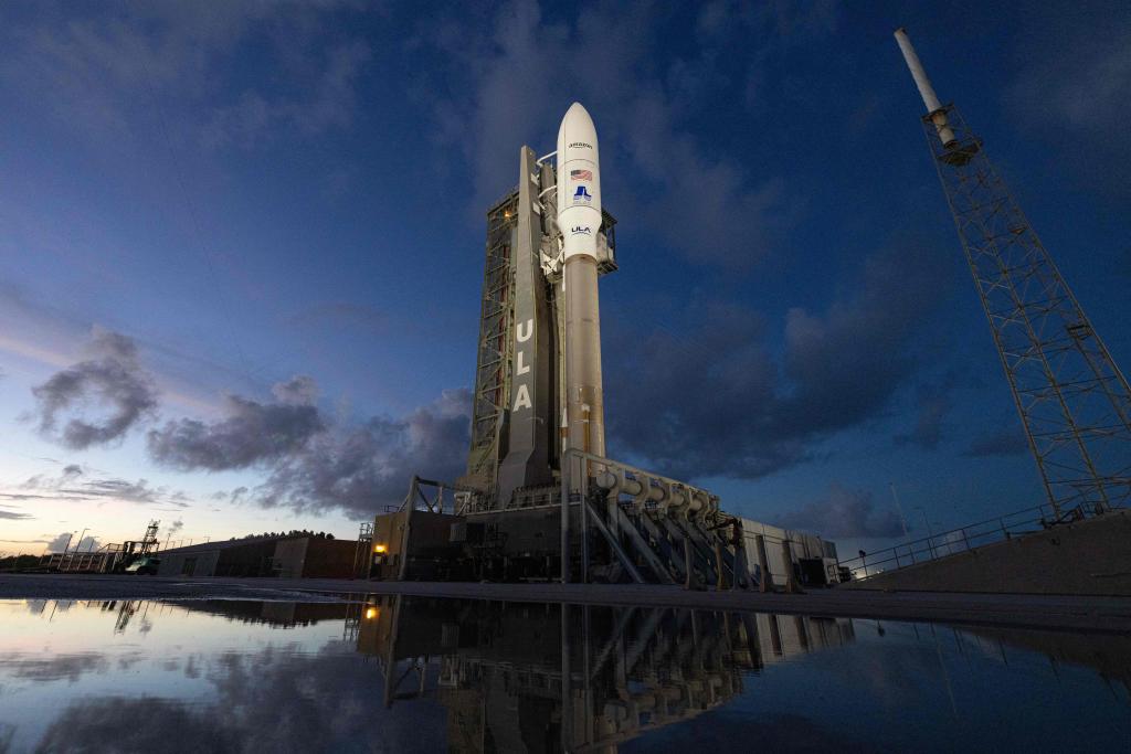
{"type": "Polygon", "coordinates": [[[1131,389],[953,105],[903,31],[924,131],[1013,400],[1057,518],[1131,499],[1131,389]]]}

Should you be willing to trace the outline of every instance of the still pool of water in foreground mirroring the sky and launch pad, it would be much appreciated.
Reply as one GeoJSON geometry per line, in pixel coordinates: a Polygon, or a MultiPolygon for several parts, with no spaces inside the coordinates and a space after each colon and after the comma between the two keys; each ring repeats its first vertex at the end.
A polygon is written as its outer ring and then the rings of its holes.
{"type": "Polygon", "coordinates": [[[0,752],[1131,740],[1125,633],[402,595],[7,599],[0,627],[0,752]]]}

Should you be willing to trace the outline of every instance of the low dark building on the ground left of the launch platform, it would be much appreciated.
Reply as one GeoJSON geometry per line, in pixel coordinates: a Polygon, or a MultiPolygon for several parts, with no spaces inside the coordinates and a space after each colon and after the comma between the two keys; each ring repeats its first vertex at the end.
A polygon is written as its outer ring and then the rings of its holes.
{"type": "Polygon", "coordinates": [[[252,537],[157,553],[162,577],[348,579],[357,543],[323,537],[252,537]]]}

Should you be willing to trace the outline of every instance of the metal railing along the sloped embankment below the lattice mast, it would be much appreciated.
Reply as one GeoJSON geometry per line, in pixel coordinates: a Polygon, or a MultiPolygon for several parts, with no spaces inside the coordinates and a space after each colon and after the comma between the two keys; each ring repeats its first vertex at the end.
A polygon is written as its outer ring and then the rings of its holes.
{"type": "Polygon", "coordinates": [[[838,565],[841,569],[847,567],[853,580],[863,581],[896,569],[957,555],[976,547],[1005,541],[1016,536],[1042,531],[1085,518],[1087,513],[1083,508],[1074,508],[1057,517],[1051,505],[1042,504],[959,529],[905,541],[852,560],[838,561],[838,565]]]}

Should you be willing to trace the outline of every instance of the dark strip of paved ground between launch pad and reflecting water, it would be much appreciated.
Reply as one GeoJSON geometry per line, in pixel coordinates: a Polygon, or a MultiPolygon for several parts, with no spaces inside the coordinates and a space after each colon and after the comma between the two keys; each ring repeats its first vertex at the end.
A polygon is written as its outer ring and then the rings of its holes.
{"type": "Polygon", "coordinates": [[[1013,629],[1131,632],[1131,597],[959,595],[817,589],[803,595],[685,591],[653,584],[380,582],[346,579],[185,579],[0,574],[0,599],[311,599],[311,595],[430,597],[632,605],[778,615],[837,615],[1013,629]]]}

